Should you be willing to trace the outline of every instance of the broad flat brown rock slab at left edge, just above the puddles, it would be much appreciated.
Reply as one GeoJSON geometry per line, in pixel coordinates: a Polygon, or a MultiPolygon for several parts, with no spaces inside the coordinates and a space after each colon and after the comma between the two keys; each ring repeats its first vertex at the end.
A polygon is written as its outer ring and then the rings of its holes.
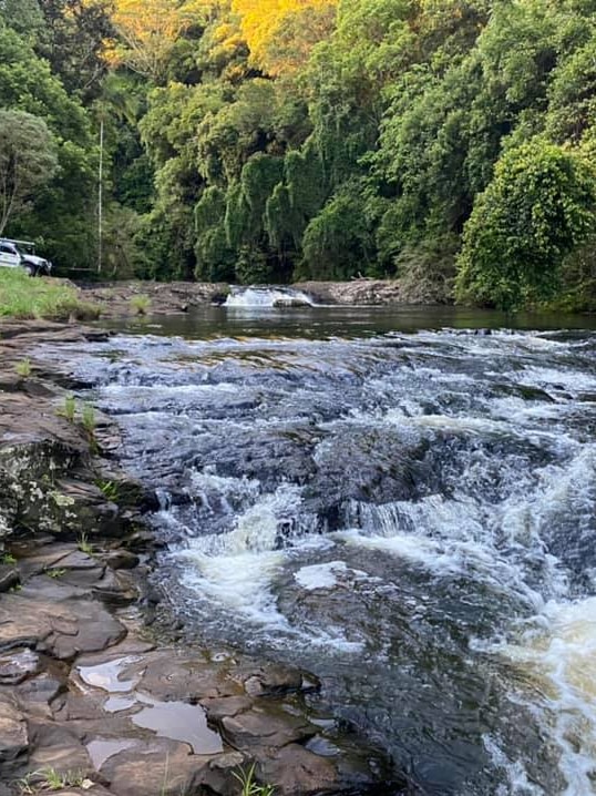
{"type": "Polygon", "coordinates": [[[100,603],[8,594],[0,601],[0,651],[27,646],[62,661],[105,650],[126,635],[100,603]]]}

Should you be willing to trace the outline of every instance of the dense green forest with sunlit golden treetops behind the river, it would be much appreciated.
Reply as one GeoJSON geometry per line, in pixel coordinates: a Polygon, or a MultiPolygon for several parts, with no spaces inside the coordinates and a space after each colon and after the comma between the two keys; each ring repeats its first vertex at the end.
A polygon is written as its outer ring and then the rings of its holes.
{"type": "Polygon", "coordinates": [[[0,0],[0,234],[65,275],[596,308],[595,157],[596,0],[0,0]]]}

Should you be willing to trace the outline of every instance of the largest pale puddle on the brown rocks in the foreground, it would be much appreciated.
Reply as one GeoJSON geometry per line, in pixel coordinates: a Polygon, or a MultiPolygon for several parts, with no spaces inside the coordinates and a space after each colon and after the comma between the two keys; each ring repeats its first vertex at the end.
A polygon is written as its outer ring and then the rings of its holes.
{"type": "Polygon", "coordinates": [[[196,755],[213,755],[224,751],[219,734],[207,726],[207,716],[201,705],[162,702],[143,693],[137,693],[136,698],[147,705],[131,716],[136,726],[153,729],[161,737],[189,744],[196,755]]]}

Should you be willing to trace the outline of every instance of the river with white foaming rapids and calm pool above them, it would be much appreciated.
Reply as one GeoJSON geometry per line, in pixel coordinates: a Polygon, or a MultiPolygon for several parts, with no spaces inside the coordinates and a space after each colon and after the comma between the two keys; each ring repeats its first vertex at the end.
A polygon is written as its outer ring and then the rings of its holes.
{"type": "Polygon", "coordinates": [[[420,793],[587,796],[595,324],[511,323],[240,305],[81,369],[157,491],[191,635],[317,673],[420,793]]]}

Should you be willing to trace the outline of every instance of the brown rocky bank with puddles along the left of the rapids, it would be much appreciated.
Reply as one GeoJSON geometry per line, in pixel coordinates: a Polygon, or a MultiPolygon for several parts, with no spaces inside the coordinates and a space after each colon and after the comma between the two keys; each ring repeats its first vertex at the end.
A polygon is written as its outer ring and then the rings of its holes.
{"type": "Polygon", "coordinates": [[[234,796],[253,765],[278,796],[405,793],[308,673],[152,626],[153,497],[43,358],[103,335],[0,325],[0,794],[234,796]]]}

